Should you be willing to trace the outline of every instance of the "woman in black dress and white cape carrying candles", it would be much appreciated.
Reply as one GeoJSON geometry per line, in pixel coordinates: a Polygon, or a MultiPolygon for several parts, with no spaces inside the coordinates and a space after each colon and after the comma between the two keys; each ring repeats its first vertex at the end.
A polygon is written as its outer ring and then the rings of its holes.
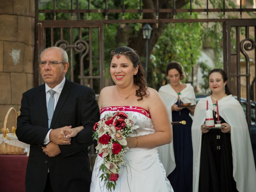
{"type": "Polygon", "coordinates": [[[209,74],[211,95],[194,112],[194,192],[255,192],[256,172],[250,136],[239,102],[230,94],[224,70],[209,74]],[[205,111],[212,110],[221,128],[206,128],[205,111]],[[244,164],[249,164],[245,166],[244,164]]]}

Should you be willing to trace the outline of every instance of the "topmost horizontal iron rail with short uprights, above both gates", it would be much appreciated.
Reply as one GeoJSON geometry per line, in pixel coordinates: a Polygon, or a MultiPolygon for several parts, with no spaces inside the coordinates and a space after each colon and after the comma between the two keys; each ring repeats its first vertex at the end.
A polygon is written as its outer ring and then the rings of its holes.
{"type": "MultiPolygon", "coordinates": [[[[159,1],[156,0],[155,2],[155,5],[156,5],[156,8],[145,8],[143,9],[142,8],[142,0],[139,0],[138,2],[138,5],[136,6],[137,8],[135,9],[126,9],[125,8],[125,0],[122,0],[122,6],[120,8],[116,8],[116,9],[109,9],[108,8],[108,0],[105,0],[105,8],[102,9],[91,9],[90,8],[90,0],[88,0],[88,6],[87,8],[82,8],[82,9],[79,9],[78,7],[78,1],[76,1],[76,9],[73,8],[73,0],[70,1],[70,9],[56,9],[56,0],[53,0],[53,3],[54,3],[54,8],[52,10],[50,9],[47,9],[47,10],[43,10],[43,9],[40,9],[38,10],[38,12],[36,12],[36,14],[38,13],[50,13],[50,14],[53,14],[53,20],[56,20],[56,14],[57,13],[70,13],[71,15],[71,20],[74,19],[74,13],[76,14],[79,14],[79,13],[85,13],[85,14],[88,14],[88,20],[91,19],[91,16],[90,16],[90,13],[97,13],[97,14],[103,14],[104,17],[105,17],[105,20],[103,20],[102,22],[104,23],[110,23],[110,22],[113,22],[113,23],[126,23],[127,20],[125,19],[125,13],[138,13],[138,18],[140,18],[138,21],[136,22],[139,22],[139,23],[144,23],[145,20],[142,18],[142,14],[143,13],[153,13],[155,15],[155,19],[158,20],[160,19],[159,18],[159,14],[160,13],[168,13],[168,14],[171,14],[172,15],[172,18],[175,18],[176,14],[177,13],[186,13],[186,12],[189,12],[190,13],[190,19],[188,19],[187,21],[185,22],[189,22],[190,20],[197,20],[197,19],[192,19],[192,13],[196,12],[196,13],[206,13],[206,17],[208,19],[209,17],[209,13],[211,12],[220,12],[220,13],[223,13],[223,17],[226,18],[226,12],[237,12],[240,14],[240,18],[242,18],[242,13],[243,12],[255,12],[256,9],[255,8],[242,8],[242,0],[240,0],[240,8],[228,8],[226,7],[226,2],[225,0],[223,0],[223,3],[222,3],[222,8],[209,8],[208,6],[208,0],[205,0],[205,4],[206,4],[206,7],[204,8],[192,8],[192,0],[190,0],[189,2],[189,5],[190,5],[190,8],[189,9],[180,9],[180,8],[176,8],[176,1],[173,0],[172,1],[172,4],[170,3],[170,7],[171,8],[159,8],[159,1]],[[122,19],[119,19],[119,20],[113,20],[113,21],[109,21],[108,19],[108,14],[111,14],[111,13],[122,13],[122,19]]],[[[38,7],[38,1],[36,1],[36,6],[38,7]]],[[[79,18],[78,18],[79,19],[79,18]]],[[[161,18],[161,19],[166,19],[166,18],[161,18]]],[[[128,20],[130,21],[130,20],[128,20]]],[[[159,21],[160,22],[160,21],[159,21]]]]}

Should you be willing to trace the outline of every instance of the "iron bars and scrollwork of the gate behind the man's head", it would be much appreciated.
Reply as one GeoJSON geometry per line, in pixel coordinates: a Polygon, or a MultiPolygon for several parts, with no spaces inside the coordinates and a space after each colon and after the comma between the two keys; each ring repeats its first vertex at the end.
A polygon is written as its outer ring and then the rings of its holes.
{"type": "MultiPolygon", "coordinates": [[[[84,84],[84,80],[88,79],[89,83],[86,86],[90,86],[93,88],[93,79],[99,79],[100,82],[100,90],[104,86],[104,62],[103,62],[103,24],[101,23],[94,23],[94,24],[85,24],[82,21],[76,22],[60,22],[60,21],[42,21],[38,23],[38,58],[40,57],[40,52],[46,48],[46,29],[49,28],[50,30],[50,46],[60,46],[64,48],[66,51],[70,51],[70,80],[74,81],[74,54],[75,53],[82,53],[80,58],[80,84],[84,84]],[[60,39],[54,43],[54,28],[60,29],[60,39]],[[64,28],[69,29],[69,42],[64,40],[64,28]],[[88,42],[83,40],[82,38],[82,29],[88,28],[88,42]],[[93,65],[92,65],[92,28],[98,29],[98,60],[99,60],[99,75],[93,74],[93,65]],[[73,39],[73,31],[79,30],[79,39],[76,42],[72,42],[73,39]],[[85,76],[84,74],[84,57],[88,55],[88,75],[85,76]]],[[[95,57],[94,57],[95,58],[95,57]]],[[[37,63],[37,61],[36,61],[37,63]]],[[[39,84],[42,83],[42,79],[39,78],[39,84]]],[[[99,91],[98,91],[99,92],[99,91]]]]}

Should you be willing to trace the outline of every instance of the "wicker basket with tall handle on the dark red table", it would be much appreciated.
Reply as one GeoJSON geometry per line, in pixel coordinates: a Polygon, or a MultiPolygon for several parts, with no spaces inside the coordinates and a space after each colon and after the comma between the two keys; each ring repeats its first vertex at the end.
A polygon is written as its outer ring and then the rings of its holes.
{"type": "Polygon", "coordinates": [[[17,116],[18,114],[13,107],[11,107],[6,113],[6,116],[4,118],[4,127],[1,129],[2,134],[0,134],[0,154],[26,154],[28,151],[29,145],[20,142],[15,135],[17,116]],[[10,132],[9,129],[6,127],[8,116],[11,111],[14,112],[16,118],[16,123],[12,127],[12,132],[10,132]]]}

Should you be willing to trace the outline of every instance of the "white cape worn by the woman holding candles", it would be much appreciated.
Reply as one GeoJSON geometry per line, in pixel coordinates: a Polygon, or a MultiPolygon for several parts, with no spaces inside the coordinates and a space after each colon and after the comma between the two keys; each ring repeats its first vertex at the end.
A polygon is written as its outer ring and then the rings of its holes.
{"type": "MultiPolygon", "coordinates": [[[[202,132],[205,121],[206,101],[208,109],[213,109],[210,96],[201,99],[196,105],[192,124],[193,144],[193,192],[198,192],[202,132]]],[[[256,191],[256,172],[252,145],[244,111],[240,103],[232,96],[218,101],[219,114],[231,126],[231,145],[233,159],[233,177],[239,192],[256,191]]]]}

